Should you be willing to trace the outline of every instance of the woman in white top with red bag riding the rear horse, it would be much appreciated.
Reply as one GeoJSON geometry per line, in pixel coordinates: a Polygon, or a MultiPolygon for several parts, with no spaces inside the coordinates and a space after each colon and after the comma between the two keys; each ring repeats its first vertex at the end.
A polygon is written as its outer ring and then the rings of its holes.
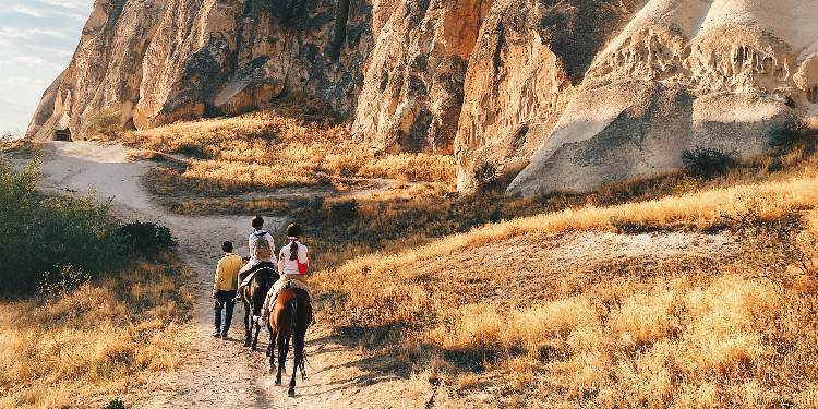
{"type": "Polygon", "coordinates": [[[285,288],[285,286],[292,286],[301,288],[310,294],[312,299],[312,290],[306,285],[306,268],[310,265],[310,251],[306,245],[301,244],[301,226],[291,224],[287,226],[287,238],[290,243],[281,248],[278,254],[278,273],[281,278],[273,285],[273,288],[267,292],[267,298],[264,300],[264,308],[262,309],[262,317],[266,321],[269,316],[272,305],[275,303],[278,293],[285,288]]]}

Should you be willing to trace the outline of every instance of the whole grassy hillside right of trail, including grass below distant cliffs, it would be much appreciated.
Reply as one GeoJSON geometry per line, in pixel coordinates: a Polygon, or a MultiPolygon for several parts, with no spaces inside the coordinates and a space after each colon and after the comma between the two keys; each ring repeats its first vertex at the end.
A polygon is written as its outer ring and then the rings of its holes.
{"type": "Polygon", "coordinates": [[[491,176],[478,193],[458,195],[446,182],[453,164],[440,157],[420,155],[408,168],[377,172],[333,166],[405,163],[366,156],[334,127],[284,109],[122,137],[202,157],[149,182],[164,187],[154,192],[172,199],[177,212],[210,201],[210,210],[268,212],[304,225],[322,318],[370,353],[399,357],[384,370],[441,385],[438,406],[818,406],[818,122],[780,135],[756,158],[695,151],[677,171],[538,197],[503,195],[514,175],[491,176]],[[225,130],[251,120],[262,131],[240,131],[249,135],[241,155],[207,151],[225,146],[225,130]],[[193,147],[180,148],[179,135],[195,140],[193,147]],[[256,152],[284,146],[322,159],[290,173],[260,165],[276,173],[254,179],[265,180],[264,189],[346,189],[362,177],[405,177],[356,199],[219,196],[262,185],[231,183],[261,175],[248,168],[264,160],[252,158],[256,152]],[[238,173],[195,173],[201,160],[238,173]],[[421,172],[429,169],[440,170],[421,172]],[[170,195],[180,190],[197,196],[170,195]],[[732,244],[707,254],[552,260],[597,237],[646,232],[732,244]]]}

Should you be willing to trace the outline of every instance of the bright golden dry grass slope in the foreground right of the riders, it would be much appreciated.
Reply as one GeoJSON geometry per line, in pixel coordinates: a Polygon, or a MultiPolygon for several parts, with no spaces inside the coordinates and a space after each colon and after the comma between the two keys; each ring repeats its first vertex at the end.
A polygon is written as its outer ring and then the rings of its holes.
{"type": "Polygon", "coordinates": [[[312,282],[340,332],[443,380],[443,407],[818,407],[815,130],[715,177],[552,194],[567,208],[359,256],[312,282]],[[599,204],[617,196],[637,201],[599,204]],[[542,276],[525,277],[541,281],[533,294],[476,268],[497,242],[679,229],[726,229],[737,251],[580,264],[556,278],[538,265],[542,276]],[[467,263],[430,267],[452,258],[467,263]]]}

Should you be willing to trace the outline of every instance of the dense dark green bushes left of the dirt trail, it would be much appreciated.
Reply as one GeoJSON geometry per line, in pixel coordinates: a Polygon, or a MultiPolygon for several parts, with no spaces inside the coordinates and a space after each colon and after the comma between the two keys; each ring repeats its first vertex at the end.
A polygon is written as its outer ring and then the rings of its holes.
{"type": "Polygon", "coordinates": [[[120,226],[93,192],[47,197],[35,188],[39,158],[21,172],[0,156],[0,293],[25,297],[40,288],[72,287],[117,270],[136,257],[175,246],[154,224],[120,226]]]}

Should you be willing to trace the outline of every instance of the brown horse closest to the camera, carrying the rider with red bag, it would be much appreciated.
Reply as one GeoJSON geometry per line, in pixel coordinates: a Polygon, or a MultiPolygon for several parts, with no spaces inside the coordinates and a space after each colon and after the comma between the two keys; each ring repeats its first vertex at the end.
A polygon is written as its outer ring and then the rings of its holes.
{"type": "MultiPolygon", "coordinates": [[[[273,339],[278,347],[276,385],[281,384],[281,371],[284,371],[284,364],[287,361],[287,351],[290,349],[290,337],[292,337],[296,360],[292,365],[290,388],[287,392],[289,396],[296,395],[296,372],[301,370],[301,378],[306,378],[306,371],[304,370],[306,358],[304,354],[304,337],[306,336],[306,327],[311,323],[312,305],[310,304],[310,294],[302,289],[285,285],[285,288],[278,293],[275,305],[270,310],[269,324],[273,339]]],[[[269,352],[269,373],[273,373],[275,363],[273,362],[274,351],[272,342],[269,352]]]]}

